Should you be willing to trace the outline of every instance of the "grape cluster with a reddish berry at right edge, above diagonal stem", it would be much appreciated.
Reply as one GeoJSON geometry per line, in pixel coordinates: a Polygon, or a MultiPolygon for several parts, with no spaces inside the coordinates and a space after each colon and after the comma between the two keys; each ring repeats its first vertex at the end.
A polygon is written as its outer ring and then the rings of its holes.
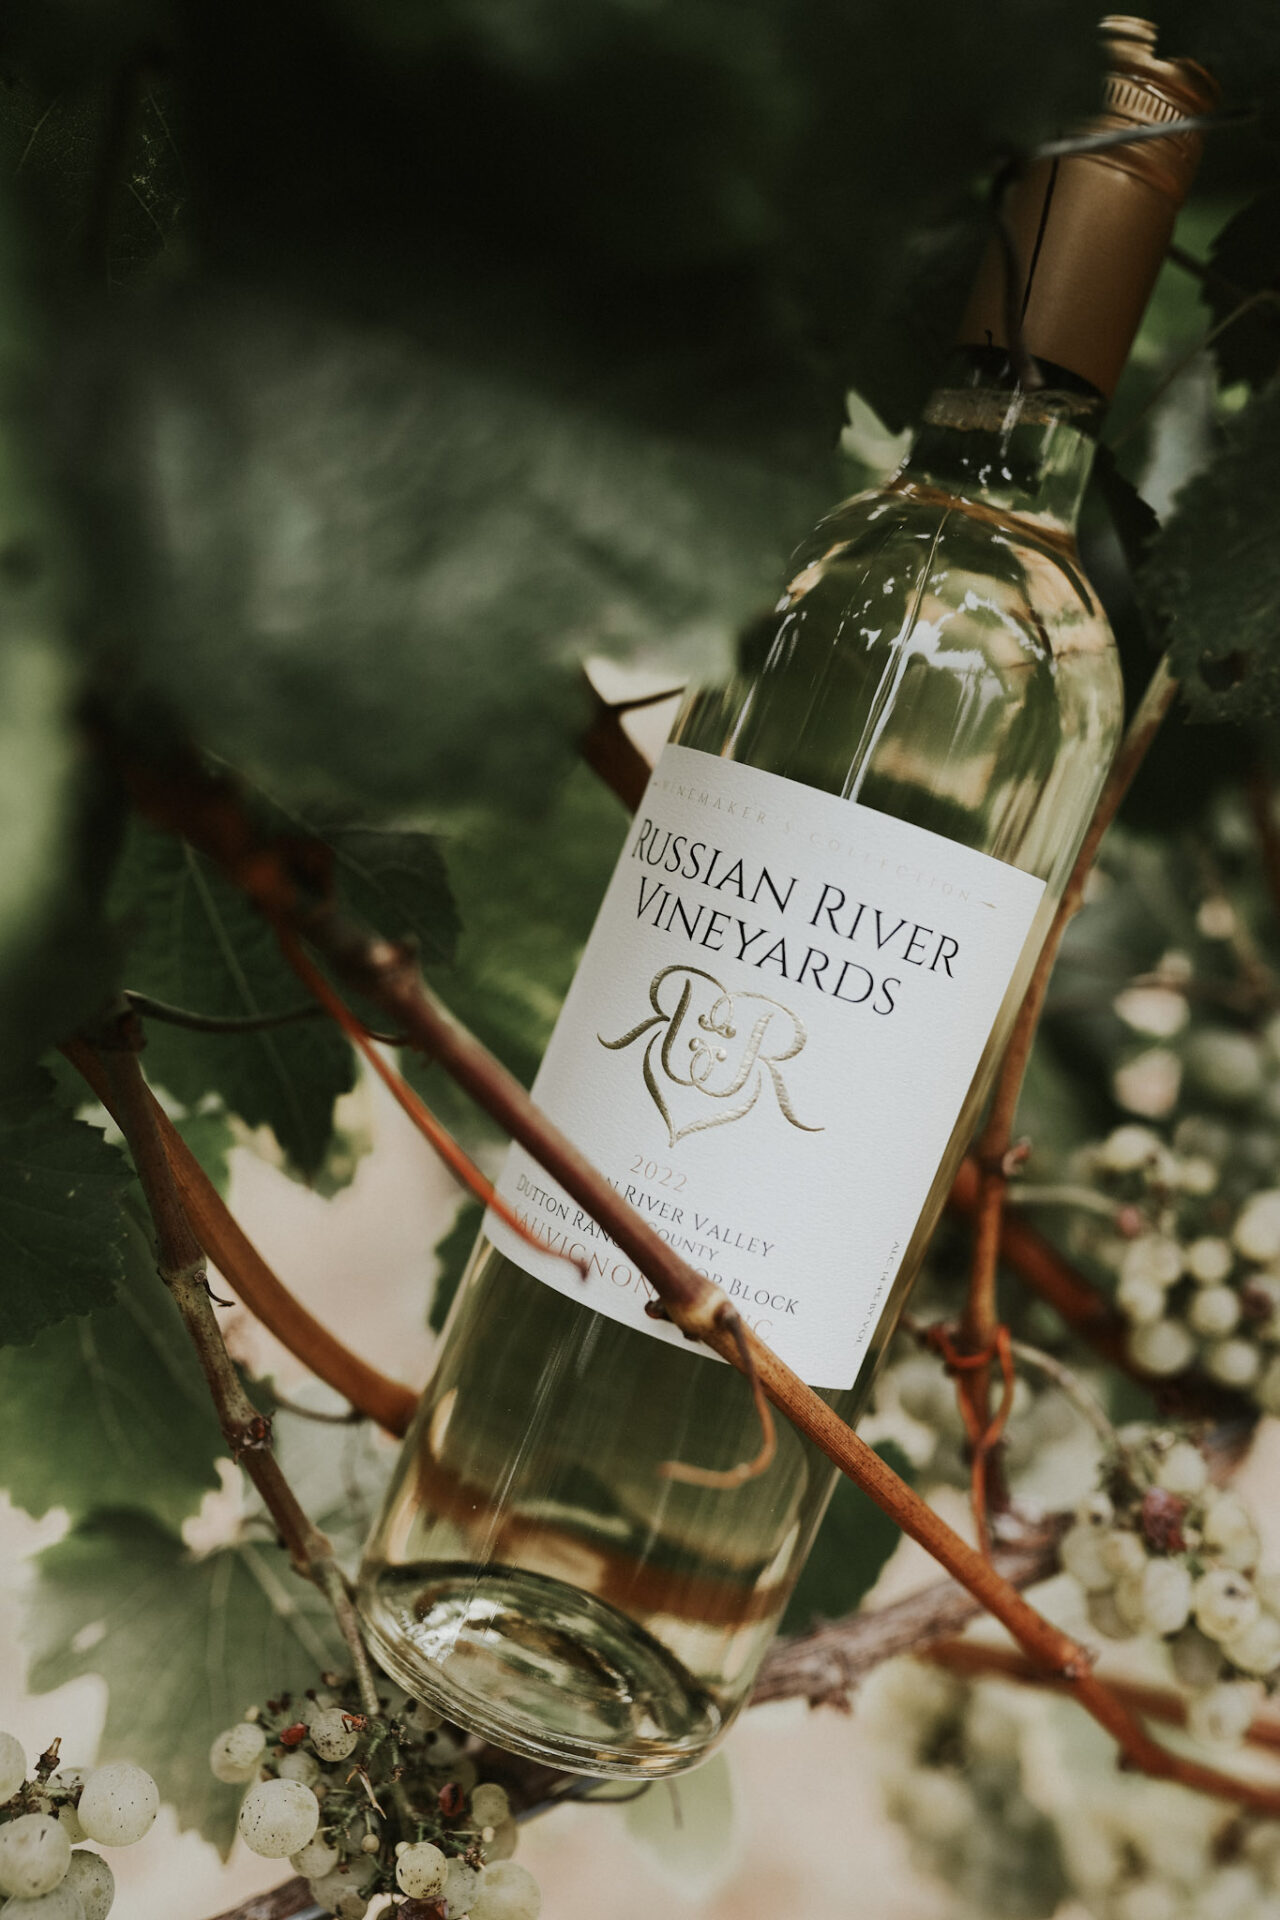
{"type": "Polygon", "coordinates": [[[1259,1571],[1259,1538],[1238,1494],[1209,1484],[1184,1434],[1125,1427],[1061,1542],[1100,1634],[1163,1640],[1190,1693],[1188,1728],[1240,1741],[1280,1682],[1280,1576],[1259,1571]]]}

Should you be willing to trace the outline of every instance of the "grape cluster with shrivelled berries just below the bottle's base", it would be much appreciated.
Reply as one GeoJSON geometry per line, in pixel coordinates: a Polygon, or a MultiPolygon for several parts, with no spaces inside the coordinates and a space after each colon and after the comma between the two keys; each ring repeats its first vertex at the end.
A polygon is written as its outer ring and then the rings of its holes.
{"type": "Polygon", "coordinates": [[[466,1736],[390,1684],[367,1715],[353,1682],[320,1678],[249,1707],[209,1749],[213,1774],[248,1788],[244,1843],[288,1859],[336,1920],[363,1920],[378,1895],[403,1920],[537,1920],[507,1791],[478,1778],[466,1736]]]}

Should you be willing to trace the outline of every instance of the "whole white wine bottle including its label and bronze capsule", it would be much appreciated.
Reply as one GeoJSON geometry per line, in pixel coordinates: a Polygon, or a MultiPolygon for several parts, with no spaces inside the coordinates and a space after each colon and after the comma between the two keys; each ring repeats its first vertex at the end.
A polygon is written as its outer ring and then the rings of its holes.
{"type": "MultiPolygon", "coordinates": [[[[1103,127],[1215,98],[1142,21],[1103,29],[1103,127]]],[[[848,1419],[1119,737],[1073,528],[1196,157],[1184,131],[1015,188],[1023,340],[996,257],[898,476],[818,528],[762,664],[687,701],[535,1083],[848,1419]]],[[[501,1745],[679,1772],[748,1695],[835,1473],[783,1423],[733,1492],[664,1478],[754,1452],[747,1382],[645,1313],[520,1148],[499,1190],[549,1254],[487,1217],[368,1542],[365,1626],[501,1745]]]]}

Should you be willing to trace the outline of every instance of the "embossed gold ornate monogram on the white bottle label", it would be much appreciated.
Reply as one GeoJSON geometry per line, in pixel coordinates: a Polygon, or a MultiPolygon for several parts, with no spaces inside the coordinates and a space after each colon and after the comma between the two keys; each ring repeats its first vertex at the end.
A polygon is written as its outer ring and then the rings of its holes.
{"type": "Polygon", "coordinates": [[[798,1127],[800,1133],[825,1131],[823,1127],[806,1127],[802,1119],[796,1119],[787,1083],[777,1071],[783,1060],[794,1060],[808,1039],[804,1021],[781,1000],[770,1000],[762,993],[733,995],[712,973],[704,973],[697,966],[666,966],[649,983],[649,1004],[652,1014],[639,1025],[616,1041],[606,1041],[603,1033],[597,1033],[597,1041],[610,1052],[618,1052],[639,1041],[643,1033],[652,1035],[645,1048],[645,1087],[666,1121],[672,1146],[687,1133],[727,1127],[729,1121],[750,1114],[760,1098],[766,1073],[773,1083],[783,1117],[793,1127],[798,1127]],[[668,981],[672,985],[664,995],[662,989],[668,981]],[[664,1006],[664,998],[676,1004],[664,1006]],[[695,1008],[695,1000],[702,1002],[700,1012],[695,1008]],[[745,1035],[739,1035],[735,1025],[739,1008],[745,1008],[745,1018],[752,1020],[750,1031],[745,1035]],[[739,1039],[741,1046],[735,1048],[735,1058],[727,1046],[718,1044],[739,1039]],[[768,1050],[766,1041],[770,1043],[768,1050]],[[706,1100],[735,1104],[677,1127],[662,1092],[664,1083],[689,1087],[706,1100]]]}

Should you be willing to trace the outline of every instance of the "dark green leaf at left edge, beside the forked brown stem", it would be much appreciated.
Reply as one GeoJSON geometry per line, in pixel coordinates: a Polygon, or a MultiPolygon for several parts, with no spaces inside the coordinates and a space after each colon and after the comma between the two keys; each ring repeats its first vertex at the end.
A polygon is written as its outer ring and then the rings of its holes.
{"type": "Polygon", "coordinates": [[[111,1300],[130,1187],[125,1156],[67,1114],[42,1068],[0,1091],[0,1346],[111,1300]]]}

